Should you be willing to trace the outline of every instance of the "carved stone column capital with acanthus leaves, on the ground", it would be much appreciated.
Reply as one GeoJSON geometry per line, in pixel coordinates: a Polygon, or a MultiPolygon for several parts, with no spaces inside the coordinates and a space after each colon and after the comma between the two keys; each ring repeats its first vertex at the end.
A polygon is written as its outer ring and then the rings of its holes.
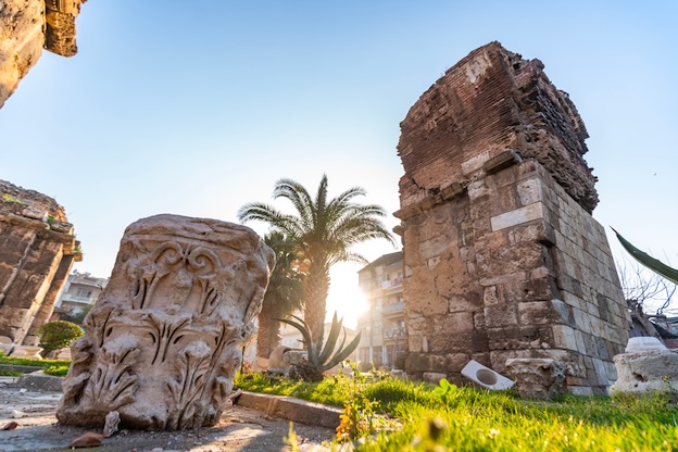
{"type": "Polygon", "coordinates": [[[214,425],[253,332],[275,254],[250,228],[156,215],[131,224],[111,280],[71,346],[61,423],[214,425]]]}

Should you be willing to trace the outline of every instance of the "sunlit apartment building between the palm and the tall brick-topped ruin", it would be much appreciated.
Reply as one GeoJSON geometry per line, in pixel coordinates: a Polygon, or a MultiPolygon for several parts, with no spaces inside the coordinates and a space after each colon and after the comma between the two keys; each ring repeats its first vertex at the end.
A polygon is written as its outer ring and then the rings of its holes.
{"type": "Polygon", "coordinates": [[[369,309],[361,315],[359,360],[364,368],[398,368],[405,353],[403,253],[385,254],[357,272],[369,309]]]}

